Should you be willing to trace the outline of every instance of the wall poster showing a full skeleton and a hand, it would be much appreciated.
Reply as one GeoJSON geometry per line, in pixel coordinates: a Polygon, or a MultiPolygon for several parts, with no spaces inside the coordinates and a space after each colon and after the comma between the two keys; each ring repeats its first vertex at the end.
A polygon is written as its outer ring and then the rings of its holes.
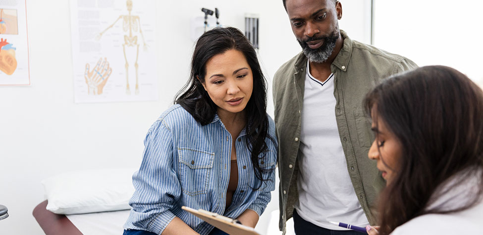
{"type": "Polygon", "coordinates": [[[154,0],[71,0],[74,101],[158,99],[154,0]]]}

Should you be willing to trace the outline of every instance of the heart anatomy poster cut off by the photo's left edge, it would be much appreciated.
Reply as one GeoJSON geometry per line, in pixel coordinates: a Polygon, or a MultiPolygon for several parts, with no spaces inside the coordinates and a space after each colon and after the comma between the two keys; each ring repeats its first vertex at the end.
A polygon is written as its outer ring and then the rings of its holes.
{"type": "Polygon", "coordinates": [[[0,86],[28,86],[26,0],[0,0],[0,86]]]}

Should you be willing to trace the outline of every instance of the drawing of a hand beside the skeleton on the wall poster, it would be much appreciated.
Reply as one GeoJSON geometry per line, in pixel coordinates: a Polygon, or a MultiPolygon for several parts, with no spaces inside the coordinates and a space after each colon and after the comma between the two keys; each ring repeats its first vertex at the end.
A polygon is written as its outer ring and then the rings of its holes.
{"type": "Polygon", "coordinates": [[[109,68],[109,62],[107,59],[99,59],[94,69],[89,71],[89,64],[86,64],[86,72],[84,78],[88,86],[88,94],[103,94],[104,86],[107,83],[107,79],[112,73],[112,69],[109,68]]]}

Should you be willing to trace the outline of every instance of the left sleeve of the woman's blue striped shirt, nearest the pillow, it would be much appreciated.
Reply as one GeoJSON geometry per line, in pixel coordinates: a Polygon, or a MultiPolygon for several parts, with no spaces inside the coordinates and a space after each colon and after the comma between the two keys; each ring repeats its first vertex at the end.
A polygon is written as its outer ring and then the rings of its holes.
{"type": "Polygon", "coordinates": [[[170,211],[181,195],[181,187],[173,167],[171,131],[163,120],[158,120],[148,131],[144,141],[143,161],[133,175],[135,188],[129,204],[129,220],[137,229],[161,234],[174,219],[170,211]]]}

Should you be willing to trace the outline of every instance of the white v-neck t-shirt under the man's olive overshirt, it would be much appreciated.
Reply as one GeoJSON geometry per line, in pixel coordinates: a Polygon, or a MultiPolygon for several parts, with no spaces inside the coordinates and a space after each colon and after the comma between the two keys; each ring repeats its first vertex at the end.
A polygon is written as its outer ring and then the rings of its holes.
{"type": "Polygon", "coordinates": [[[297,213],[330,230],[346,230],[329,221],[369,224],[352,186],[335,119],[334,75],[324,82],[310,74],[307,62],[299,147],[297,213]]]}

